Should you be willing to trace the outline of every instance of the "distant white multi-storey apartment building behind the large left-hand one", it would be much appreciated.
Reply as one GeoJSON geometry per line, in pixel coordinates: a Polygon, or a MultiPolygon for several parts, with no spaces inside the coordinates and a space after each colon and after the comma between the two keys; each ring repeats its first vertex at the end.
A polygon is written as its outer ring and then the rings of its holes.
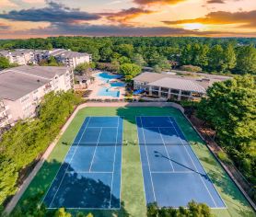
{"type": "Polygon", "coordinates": [[[58,63],[63,63],[67,67],[73,69],[80,63],[90,63],[91,55],[86,52],[67,51],[64,49],[56,49],[49,51],[49,56],[53,56],[58,63]]]}

